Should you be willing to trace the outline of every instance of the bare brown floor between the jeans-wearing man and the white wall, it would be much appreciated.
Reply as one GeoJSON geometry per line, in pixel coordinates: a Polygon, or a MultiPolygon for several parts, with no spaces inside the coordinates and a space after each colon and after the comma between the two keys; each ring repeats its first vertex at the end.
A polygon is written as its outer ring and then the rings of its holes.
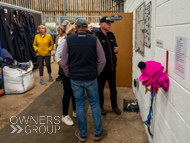
{"type": "MultiPolygon", "coordinates": [[[[123,109],[123,99],[135,99],[131,88],[118,87],[118,106],[123,109]]],[[[112,112],[110,103],[109,89],[105,89],[105,105],[107,111],[106,116],[102,116],[103,128],[107,130],[108,136],[100,141],[100,143],[148,143],[148,138],[145,133],[144,124],[140,114],[122,111],[121,115],[116,115],[112,112]]],[[[88,121],[88,143],[94,143],[93,140],[93,121],[91,109],[87,111],[88,121]]]]}

